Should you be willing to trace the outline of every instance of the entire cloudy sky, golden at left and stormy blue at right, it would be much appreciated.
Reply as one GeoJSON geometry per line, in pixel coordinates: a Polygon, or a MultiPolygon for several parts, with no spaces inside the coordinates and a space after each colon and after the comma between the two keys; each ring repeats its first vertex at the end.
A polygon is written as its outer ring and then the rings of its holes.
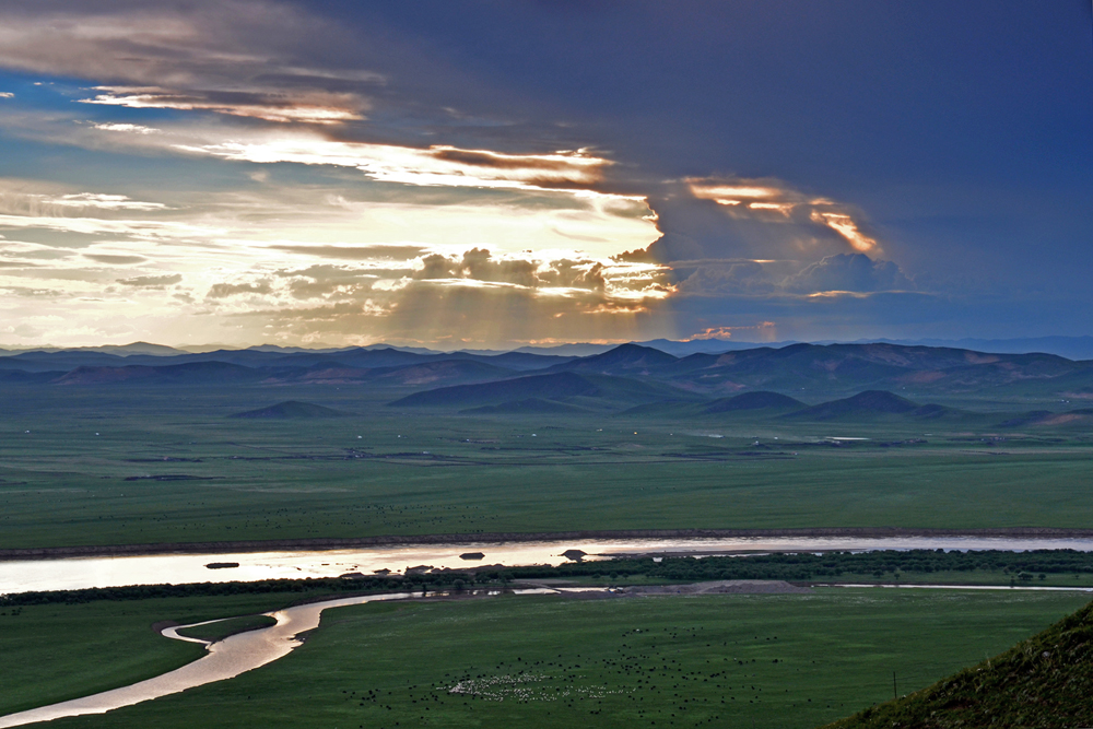
{"type": "Polygon", "coordinates": [[[0,346],[1093,333],[1088,0],[0,3],[0,346]]]}

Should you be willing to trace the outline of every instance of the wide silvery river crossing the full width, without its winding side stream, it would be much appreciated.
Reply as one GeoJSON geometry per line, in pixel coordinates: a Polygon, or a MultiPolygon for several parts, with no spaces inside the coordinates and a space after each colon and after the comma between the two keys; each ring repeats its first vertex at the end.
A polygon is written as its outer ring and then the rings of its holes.
{"type": "Polygon", "coordinates": [[[72,557],[0,561],[0,595],[31,590],[74,590],[125,585],[256,581],[260,579],[371,575],[381,569],[404,574],[408,568],[467,568],[566,562],[563,552],[580,550],[586,560],[624,554],[654,557],[689,554],[748,554],[755,552],[823,552],[872,550],[1008,550],[1072,549],[1093,552],[1093,538],[1007,537],[736,537],[724,539],[627,539],[540,542],[465,542],[374,546],[367,549],[238,552],[218,554],[153,554],[145,556],[72,557]],[[482,553],[480,560],[460,555],[482,553]],[[212,563],[239,566],[210,569],[212,563]]]}

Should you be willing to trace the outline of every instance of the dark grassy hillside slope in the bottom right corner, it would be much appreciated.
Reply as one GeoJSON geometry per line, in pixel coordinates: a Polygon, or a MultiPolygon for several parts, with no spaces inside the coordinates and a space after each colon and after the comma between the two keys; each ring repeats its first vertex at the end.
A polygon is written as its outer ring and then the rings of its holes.
{"type": "Polygon", "coordinates": [[[1093,726],[1093,603],[1000,656],[830,729],[1093,726]]]}

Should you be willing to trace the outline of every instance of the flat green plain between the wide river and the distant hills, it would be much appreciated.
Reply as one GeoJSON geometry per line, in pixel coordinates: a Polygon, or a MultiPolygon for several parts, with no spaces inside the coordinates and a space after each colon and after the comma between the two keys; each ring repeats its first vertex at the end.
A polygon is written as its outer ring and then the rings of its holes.
{"type": "Polygon", "coordinates": [[[472,416],[388,408],[391,391],[333,386],[4,395],[0,549],[615,529],[1088,528],[1093,513],[1093,436],[1066,423],[1000,428],[1004,414],[821,423],[755,413],[472,416]],[[228,418],[291,399],[353,415],[228,418]]]}

